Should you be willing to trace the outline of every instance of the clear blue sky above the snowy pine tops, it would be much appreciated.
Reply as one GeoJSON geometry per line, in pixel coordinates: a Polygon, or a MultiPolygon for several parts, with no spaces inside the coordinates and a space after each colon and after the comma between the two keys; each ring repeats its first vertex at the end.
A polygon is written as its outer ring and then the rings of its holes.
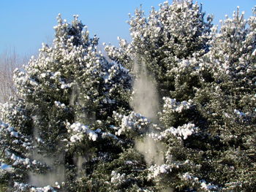
{"type": "MultiPolygon", "coordinates": [[[[0,54],[15,48],[20,55],[37,53],[42,42],[51,42],[56,16],[72,20],[79,15],[88,26],[91,36],[97,34],[100,42],[118,45],[117,37],[129,39],[128,13],[143,5],[149,12],[151,6],[158,9],[160,0],[1,0],[0,1],[0,54]]],[[[169,1],[171,2],[171,0],[169,1]]],[[[198,0],[206,14],[214,14],[218,24],[225,15],[230,17],[240,6],[246,18],[252,15],[255,0],[198,0]]]]}

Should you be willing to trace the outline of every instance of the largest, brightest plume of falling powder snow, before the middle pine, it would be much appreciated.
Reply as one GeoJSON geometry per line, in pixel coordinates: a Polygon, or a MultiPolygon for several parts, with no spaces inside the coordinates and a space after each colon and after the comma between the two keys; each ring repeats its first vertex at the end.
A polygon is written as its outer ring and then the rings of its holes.
{"type": "MultiPolygon", "coordinates": [[[[134,64],[134,73],[137,75],[133,84],[133,97],[130,106],[135,112],[145,116],[151,122],[157,122],[157,112],[159,112],[159,96],[157,93],[154,77],[148,73],[146,64],[134,64]]],[[[149,128],[148,132],[153,130],[149,128]]],[[[135,140],[135,148],[144,156],[148,166],[151,164],[161,165],[164,163],[165,150],[159,142],[150,137],[135,140]]]]}

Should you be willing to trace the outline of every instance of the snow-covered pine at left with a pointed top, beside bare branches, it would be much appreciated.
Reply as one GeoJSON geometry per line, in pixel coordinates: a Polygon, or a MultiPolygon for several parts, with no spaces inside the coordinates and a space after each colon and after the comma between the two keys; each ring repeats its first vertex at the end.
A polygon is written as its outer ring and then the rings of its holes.
{"type": "Polygon", "coordinates": [[[129,109],[131,77],[97,52],[98,38],[89,38],[77,15],[72,23],[59,15],[54,28],[53,45],[43,44],[24,72],[15,71],[19,98],[1,107],[7,183],[16,191],[106,190],[124,151],[109,119],[113,110],[129,109]]]}

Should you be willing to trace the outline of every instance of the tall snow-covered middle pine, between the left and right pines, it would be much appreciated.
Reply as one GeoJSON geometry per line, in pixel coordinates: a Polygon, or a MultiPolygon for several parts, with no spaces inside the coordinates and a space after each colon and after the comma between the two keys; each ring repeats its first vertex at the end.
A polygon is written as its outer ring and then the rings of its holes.
{"type": "Polygon", "coordinates": [[[159,96],[165,96],[160,101],[158,125],[149,123],[135,145],[146,159],[148,180],[157,191],[215,188],[211,181],[203,180],[200,169],[207,153],[203,150],[208,150],[204,142],[207,139],[206,145],[211,146],[214,141],[201,134],[206,120],[193,101],[202,86],[200,80],[209,76],[200,67],[211,39],[212,17],[204,21],[204,15],[202,7],[192,1],[165,1],[158,11],[152,9],[148,18],[137,9],[129,21],[132,42],[120,39],[121,48],[105,47],[116,62],[129,69],[139,66],[135,77],[140,78],[140,70],[146,66],[157,82],[159,96]]]}

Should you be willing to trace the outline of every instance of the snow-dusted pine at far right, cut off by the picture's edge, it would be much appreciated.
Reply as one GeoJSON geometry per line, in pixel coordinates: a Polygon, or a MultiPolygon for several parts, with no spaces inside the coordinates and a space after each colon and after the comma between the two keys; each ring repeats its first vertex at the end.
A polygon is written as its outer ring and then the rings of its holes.
{"type": "Polygon", "coordinates": [[[238,8],[215,29],[203,64],[213,81],[195,99],[208,134],[219,138],[207,177],[223,191],[255,189],[255,24],[255,9],[246,20],[238,8]]]}

